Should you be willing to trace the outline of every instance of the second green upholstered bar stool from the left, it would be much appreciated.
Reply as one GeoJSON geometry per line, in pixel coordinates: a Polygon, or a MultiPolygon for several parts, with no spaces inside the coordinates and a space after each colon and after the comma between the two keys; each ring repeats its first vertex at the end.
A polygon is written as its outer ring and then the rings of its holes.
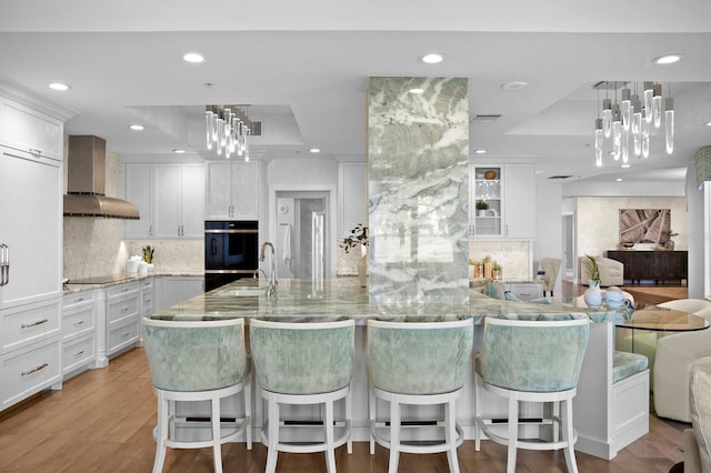
{"type": "Polygon", "coordinates": [[[267,401],[267,472],[277,469],[278,452],[326,452],[329,473],[336,473],[336,449],[351,443],[351,392],[356,323],[288,323],[250,321],[250,346],[254,360],[258,395],[267,401]],[[346,401],[346,425],[336,437],[334,403],[346,401]],[[280,404],[323,404],[323,441],[281,442],[280,404]]]}

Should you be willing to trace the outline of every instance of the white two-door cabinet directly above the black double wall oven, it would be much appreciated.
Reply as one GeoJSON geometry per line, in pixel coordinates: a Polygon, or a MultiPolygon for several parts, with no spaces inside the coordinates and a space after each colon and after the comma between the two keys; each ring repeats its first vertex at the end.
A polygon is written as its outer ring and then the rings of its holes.
{"type": "Polygon", "coordinates": [[[259,163],[206,161],[204,220],[259,220],[259,163]]]}

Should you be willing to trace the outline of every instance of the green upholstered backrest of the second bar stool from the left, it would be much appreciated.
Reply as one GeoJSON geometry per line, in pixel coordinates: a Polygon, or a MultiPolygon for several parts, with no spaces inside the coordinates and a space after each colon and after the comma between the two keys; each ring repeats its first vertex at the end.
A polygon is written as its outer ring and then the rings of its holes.
{"type": "Polygon", "coordinates": [[[320,394],[350,384],[356,322],[251,320],[249,340],[258,384],[282,394],[320,394]]]}

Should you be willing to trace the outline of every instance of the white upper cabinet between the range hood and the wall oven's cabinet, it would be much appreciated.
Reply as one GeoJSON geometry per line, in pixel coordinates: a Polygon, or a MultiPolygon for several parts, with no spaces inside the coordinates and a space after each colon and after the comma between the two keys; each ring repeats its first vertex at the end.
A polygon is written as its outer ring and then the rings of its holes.
{"type": "Polygon", "coordinates": [[[127,239],[202,239],[204,167],[202,163],[126,164],[126,199],[140,220],[124,221],[127,239]]]}

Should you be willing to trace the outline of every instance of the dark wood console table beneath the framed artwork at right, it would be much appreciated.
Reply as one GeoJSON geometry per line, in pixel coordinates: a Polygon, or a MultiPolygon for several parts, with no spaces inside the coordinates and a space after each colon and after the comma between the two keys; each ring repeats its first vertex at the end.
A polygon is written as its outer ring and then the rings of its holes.
{"type": "Polygon", "coordinates": [[[624,279],[632,283],[687,279],[685,251],[608,251],[608,258],[624,264],[624,279]]]}

